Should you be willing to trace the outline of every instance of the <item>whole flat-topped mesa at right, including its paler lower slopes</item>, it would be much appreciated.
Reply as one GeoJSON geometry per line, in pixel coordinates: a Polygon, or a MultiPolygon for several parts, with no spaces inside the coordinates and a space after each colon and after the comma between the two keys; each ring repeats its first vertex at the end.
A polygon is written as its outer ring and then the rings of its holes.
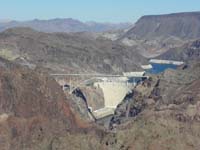
{"type": "Polygon", "coordinates": [[[200,38],[200,12],[141,17],[120,38],[123,44],[145,57],[156,57],[169,49],[200,38]]]}

